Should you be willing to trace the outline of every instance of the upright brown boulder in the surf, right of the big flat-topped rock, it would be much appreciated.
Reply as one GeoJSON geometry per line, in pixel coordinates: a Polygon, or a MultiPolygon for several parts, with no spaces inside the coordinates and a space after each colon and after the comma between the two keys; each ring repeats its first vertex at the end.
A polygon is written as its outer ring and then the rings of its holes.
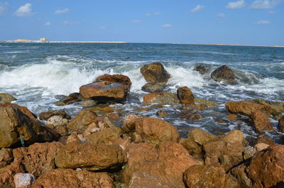
{"type": "Polygon", "coordinates": [[[167,83],[170,78],[170,74],[160,62],[144,65],[141,67],[140,72],[148,83],[167,83]]]}

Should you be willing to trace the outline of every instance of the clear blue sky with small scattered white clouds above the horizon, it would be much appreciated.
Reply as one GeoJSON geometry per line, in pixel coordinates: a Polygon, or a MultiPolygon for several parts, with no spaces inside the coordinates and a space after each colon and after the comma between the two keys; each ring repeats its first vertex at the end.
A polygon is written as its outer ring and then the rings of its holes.
{"type": "Polygon", "coordinates": [[[284,45],[284,0],[0,0],[0,40],[284,45]]]}

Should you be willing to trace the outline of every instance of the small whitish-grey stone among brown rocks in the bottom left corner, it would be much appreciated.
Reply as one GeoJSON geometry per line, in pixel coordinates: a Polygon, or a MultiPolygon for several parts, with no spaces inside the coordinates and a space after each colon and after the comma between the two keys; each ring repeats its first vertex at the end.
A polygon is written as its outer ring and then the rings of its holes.
{"type": "Polygon", "coordinates": [[[31,184],[35,181],[35,177],[32,174],[24,174],[24,173],[18,173],[14,175],[13,182],[16,186],[16,188],[26,188],[31,187],[31,184]]]}

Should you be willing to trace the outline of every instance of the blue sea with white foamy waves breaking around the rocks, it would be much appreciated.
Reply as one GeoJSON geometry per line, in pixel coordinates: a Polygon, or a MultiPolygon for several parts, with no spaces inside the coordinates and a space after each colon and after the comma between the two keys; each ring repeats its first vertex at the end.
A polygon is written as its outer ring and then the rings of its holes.
{"type": "MultiPolygon", "coordinates": [[[[177,126],[181,134],[190,128],[201,127],[213,133],[236,128],[255,137],[253,128],[244,121],[226,118],[226,101],[268,99],[284,101],[284,48],[226,45],[173,45],[147,43],[0,43],[0,92],[18,99],[35,114],[51,109],[65,109],[75,116],[82,108],[79,103],[55,106],[62,95],[79,92],[83,84],[102,74],[125,74],[132,87],[124,104],[113,104],[125,114],[157,117],[158,109],[141,108],[141,90],[146,84],[140,68],[151,62],[161,62],[171,74],[165,89],[176,92],[189,87],[195,97],[217,101],[220,106],[202,111],[199,121],[178,118],[181,106],[163,106],[170,116],[165,120],[177,126]],[[209,67],[207,74],[194,71],[196,65],[209,67]],[[211,72],[228,65],[236,74],[237,84],[215,82],[211,72]],[[222,118],[224,122],[215,120],[222,118]]],[[[275,129],[277,122],[274,123],[275,129]]],[[[275,139],[282,133],[273,133],[275,139]]]]}

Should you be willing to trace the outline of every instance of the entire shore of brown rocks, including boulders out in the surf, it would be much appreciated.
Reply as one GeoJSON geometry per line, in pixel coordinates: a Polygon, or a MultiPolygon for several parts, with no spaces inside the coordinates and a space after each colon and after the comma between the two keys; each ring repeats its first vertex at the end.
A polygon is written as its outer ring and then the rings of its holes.
{"type": "MultiPolygon", "coordinates": [[[[208,71],[201,65],[195,70],[208,71]]],[[[174,110],[179,105],[178,117],[194,122],[219,104],[195,98],[188,87],[164,92],[170,74],[160,62],[144,65],[141,74],[147,82],[141,89],[148,94],[138,110],[157,109],[159,118],[109,105],[129,100],[132,82],[122,74],[99,76],[56,103],[85,106],[74,117],[64,110],[36,116],[10,94],[0,94],[0,187],[284,187],[284,145],[269,137],[284,131],[283,101],[226,102],[226,118],[246,121],[257,138],[239,130],[215,135],[202,128],[188,128],[181,136],[165,121],[169,115],[163,106],[174,110]],[[278,121],[277,128],[271,119],[278,121]]],[[[211,77],[237,84],[226,65],[211,77]]]]}

